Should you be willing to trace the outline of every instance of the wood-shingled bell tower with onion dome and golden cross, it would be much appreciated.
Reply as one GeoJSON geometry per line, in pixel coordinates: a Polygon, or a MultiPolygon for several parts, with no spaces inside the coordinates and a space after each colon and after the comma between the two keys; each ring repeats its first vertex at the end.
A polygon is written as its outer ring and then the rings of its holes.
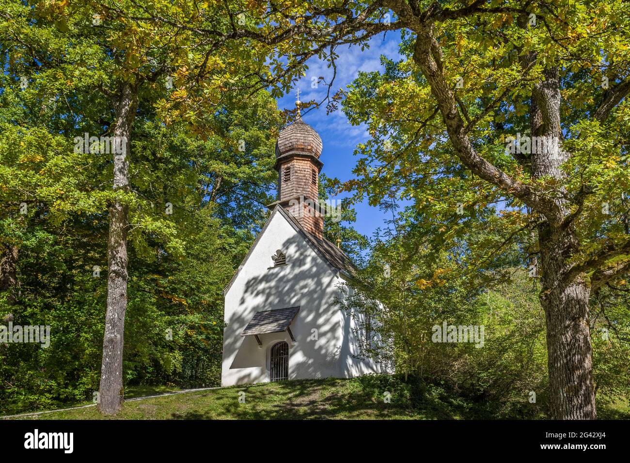
{"type": "Polygon", "coordinates": [[[323,239],[324,216],[318,207],[319,172],[324,163],[321,138],[300,114],[297,90],[297,115],[278,135],[275,169],[278,171],[278,201],[304,231],[323,239]]]}

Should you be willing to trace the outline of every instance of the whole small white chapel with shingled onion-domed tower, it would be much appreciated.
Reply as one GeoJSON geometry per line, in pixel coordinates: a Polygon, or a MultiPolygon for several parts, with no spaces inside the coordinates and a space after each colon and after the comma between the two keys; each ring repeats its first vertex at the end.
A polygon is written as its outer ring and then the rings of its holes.
{"type": "Polygon", "coordinates": [[[332,304],[350,258],[323,236],[318,133],[298,115],[276,145],[278,200],[224,290],[221,386],[384,372],[355,358],[355,322],[332,304]],[[309,209],[311,208],[311,209],[309,209]]]}

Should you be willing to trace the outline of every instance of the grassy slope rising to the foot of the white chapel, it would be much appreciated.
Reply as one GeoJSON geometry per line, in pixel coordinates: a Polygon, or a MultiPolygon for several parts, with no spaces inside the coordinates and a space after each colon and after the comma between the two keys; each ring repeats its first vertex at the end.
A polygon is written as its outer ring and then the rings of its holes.
{"type": "MultiPolygon", "coordinates": [[[[450,416],[456,418],[455,416],[450,416]]],[[[57,411],[22,419],[99,420],[95,407],[57,411]]],[[[186,392],[127,402],[114,418],[122,420],[230,419],[413,419],[449,418],[439,411],[418,413],[373,400],[353,381],[325,379],[255,384],[186,392]],[[239,392],[245,403],[239,403],[239,392]]]]}

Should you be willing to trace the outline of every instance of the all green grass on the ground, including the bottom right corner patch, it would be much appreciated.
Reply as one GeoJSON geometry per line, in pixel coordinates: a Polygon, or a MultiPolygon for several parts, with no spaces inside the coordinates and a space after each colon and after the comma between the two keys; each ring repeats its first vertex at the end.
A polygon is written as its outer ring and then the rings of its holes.
{"type": "MultiPolygon", "coordinates": [[[[365,378],[365,377],[364,377],[365,378]]],[[[127,401],[116,416],[106,417],[96,407],[54,411],[26,420],[432,420],[488,418],[474,404],[445,397],[432,397],[412,409],[392,392],[385,403],[370,379],[295,380],[248,386],[224,387],[206,391],[183,392],[171,396],[127,401]],[[239,403],[243,397],[244,403],[239,403]]],[[[127,397],[172,392],[171,387],[139,387],[127,397]]],[[[630,419],[627,401],[599,409],[601,418],[630,419]]]]}

